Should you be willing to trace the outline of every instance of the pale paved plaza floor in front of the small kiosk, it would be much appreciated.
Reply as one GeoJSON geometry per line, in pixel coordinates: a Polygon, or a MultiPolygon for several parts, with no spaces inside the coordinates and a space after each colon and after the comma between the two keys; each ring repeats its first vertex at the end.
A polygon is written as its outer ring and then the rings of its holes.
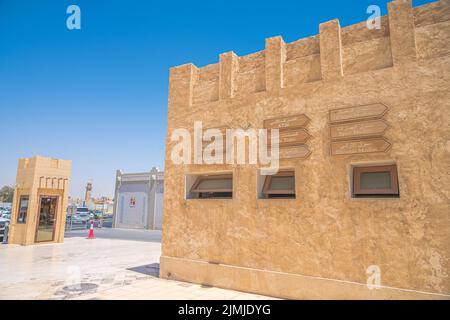
{"type": "Polygon", "coordinates": [[[161,232],[101,229],[61,244],[0,245],[0,299],[267,299],[158,277],[161,232]]]}

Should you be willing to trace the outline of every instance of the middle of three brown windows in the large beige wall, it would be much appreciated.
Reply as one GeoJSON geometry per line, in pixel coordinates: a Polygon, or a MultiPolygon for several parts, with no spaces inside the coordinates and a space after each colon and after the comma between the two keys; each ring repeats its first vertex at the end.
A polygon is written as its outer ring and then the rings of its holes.
{"type": "Polygon", "coordinates": [[[281,171],[275,175],[266,176],[263,186],[265,198],[295,199],[294,171],[281,171]]]}

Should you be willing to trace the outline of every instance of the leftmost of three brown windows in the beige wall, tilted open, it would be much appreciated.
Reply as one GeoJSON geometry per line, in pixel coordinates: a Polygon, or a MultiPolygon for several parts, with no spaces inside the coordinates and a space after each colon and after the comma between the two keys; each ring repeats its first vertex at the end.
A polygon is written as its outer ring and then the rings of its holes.
{"type": "Polygon", "coordinates": [[[191,193],[197,193],[200,199],[230,199],[233,197],[233,177],[231,174],[199,176],[191,193]]]}

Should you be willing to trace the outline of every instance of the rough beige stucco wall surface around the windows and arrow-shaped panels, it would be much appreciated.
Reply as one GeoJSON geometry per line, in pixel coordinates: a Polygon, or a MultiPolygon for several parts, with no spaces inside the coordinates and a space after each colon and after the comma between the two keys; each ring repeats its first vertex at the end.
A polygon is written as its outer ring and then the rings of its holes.
{"type": "MultiPolygon", "coordinates": [[[[253,64],[231,54],[237,60],[231,71],[208,66],[219,70],[212,75],[217,77],[214,95],[206,94],[211,85],[199,85],[202,69],[172,68],[162,256],[361,284],[367,267],[378,265],[383,286],[450,294],[449,21],[448,1],[415,9],[409,1],[395,1],[383,29],[374,34],[361,25],[340,29],[334,20],[321,25],[320,37],[293,44],[267,39],[253,64]],[[242,83],[240,72],[246,68],[253,78],[245,81],[253,84],[242,83]],[[199,96],[210,98],[195,99],[199,96]],[[329,110],[372,103],[389,108],[384,137],[391,148],[330,155],[329,110]],[[172,131],[192,129],[194,121],[203,121],[205,128],[263,128],[265,119],[295,114],[311,119],[312,135],[307,159],[280,163],[295,169],[295,200],[258,200],[257,165],[174,165],[170,160],[172,131]],[[350,168],[361,163],[396,163],[400,198],[351,198],[350,168]],[[232,200],[185,199],[187,174],[215,172],[233,173],[232,200]]],[[[221,56],[221,64],[231,60],[221,56]]],[[[175,274],[171,263],[161,264],[163,277],[175,274]]],[[[179,278],[216,283],[211,277],[179,278]]],[[[231,279],[221,285],[236,287],[231,279]]],[[[239,287],[246,288],[263,291],[239,287]]]]}

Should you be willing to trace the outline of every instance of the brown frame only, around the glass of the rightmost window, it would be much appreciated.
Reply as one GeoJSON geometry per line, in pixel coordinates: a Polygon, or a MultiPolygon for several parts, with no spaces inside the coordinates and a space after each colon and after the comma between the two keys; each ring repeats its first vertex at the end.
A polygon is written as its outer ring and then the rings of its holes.
{"type": "Polygon", "coordinates": [[[353,197],[388,195],[399,196],[397,165],[361,166],[353,167],[353,197]],[[361,174],[389,172],[391,176],[391,188],[388,189],[361,189],[361,174]]]}

